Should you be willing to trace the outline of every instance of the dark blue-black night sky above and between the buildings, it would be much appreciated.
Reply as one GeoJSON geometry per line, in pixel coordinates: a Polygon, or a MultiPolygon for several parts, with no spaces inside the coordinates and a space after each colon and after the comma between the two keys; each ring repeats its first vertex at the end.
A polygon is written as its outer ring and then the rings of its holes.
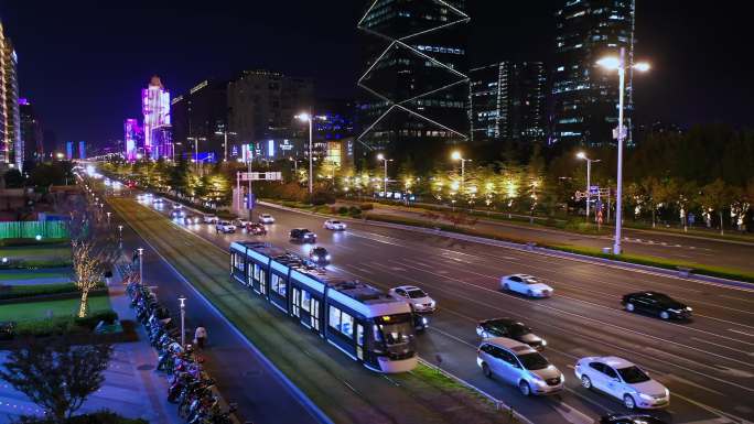
{"type": "MultiPolygon", "coordinates": [[[[549,62],[563,1],[468,0],[472,64],[549,62]]],[[[320,97],[357,94],[359,1],[98,3],[0,0],[21,96],[58,142],[122,138],[122,120],[140,118],[139,90],[153,74],[172,96],[244,68],[312,76],[320,97]]],[[[636,56],[654,66],[635,80],[640,121],[751,127],[754,36],[742,3],[637,0],[636,56]]]]}

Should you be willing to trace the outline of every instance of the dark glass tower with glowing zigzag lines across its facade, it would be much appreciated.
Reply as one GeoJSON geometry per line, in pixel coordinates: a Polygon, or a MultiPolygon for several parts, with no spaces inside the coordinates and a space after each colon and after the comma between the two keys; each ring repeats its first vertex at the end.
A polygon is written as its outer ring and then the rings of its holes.
{"type": "Polygon", "coordinates": [[[364,32],[359,155],[431,166],[468,140],[465,0],[369,1],[364,32]]]}

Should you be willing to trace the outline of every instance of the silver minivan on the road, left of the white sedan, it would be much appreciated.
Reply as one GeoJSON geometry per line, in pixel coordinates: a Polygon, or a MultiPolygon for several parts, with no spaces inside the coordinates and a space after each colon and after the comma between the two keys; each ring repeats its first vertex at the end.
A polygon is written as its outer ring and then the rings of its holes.
{"type": "Polygon", "coordinates": [[[537,350],[505,337],[485,339],[476,351],[476,365],[488,378],[518,387],[521,394],[552,394],[563,390],[562,372],[537,350]]]}

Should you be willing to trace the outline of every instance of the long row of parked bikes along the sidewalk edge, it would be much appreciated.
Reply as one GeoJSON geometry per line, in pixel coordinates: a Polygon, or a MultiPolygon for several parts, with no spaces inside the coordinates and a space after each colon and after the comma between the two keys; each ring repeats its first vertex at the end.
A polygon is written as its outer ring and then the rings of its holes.
{"type": "Polygon", "coordinates": [[[158,371],[169,376],[168,400],[177,404],[179,415],[188,424],[231,424],[235,406],[223,411],[220,400],[213,393],[215,381],[202,371],[203,360],[191,345],[184,348],[177,341],[181,329],[174,324],[170,311],[138,279],[129,279],[126,291],[137,318],[159,352],[158,371]]]}

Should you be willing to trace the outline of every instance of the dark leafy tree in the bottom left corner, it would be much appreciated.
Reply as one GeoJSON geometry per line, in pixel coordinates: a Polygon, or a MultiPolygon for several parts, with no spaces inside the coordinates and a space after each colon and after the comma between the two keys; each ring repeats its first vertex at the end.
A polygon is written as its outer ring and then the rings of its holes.
{"type": "Polygon", "coordinates": [[[103,385],[103,371],[111,355],[109,345],[74,347],[64,340],[32,341],[11,351],[0,379],[63,423],[103,385]]]}

